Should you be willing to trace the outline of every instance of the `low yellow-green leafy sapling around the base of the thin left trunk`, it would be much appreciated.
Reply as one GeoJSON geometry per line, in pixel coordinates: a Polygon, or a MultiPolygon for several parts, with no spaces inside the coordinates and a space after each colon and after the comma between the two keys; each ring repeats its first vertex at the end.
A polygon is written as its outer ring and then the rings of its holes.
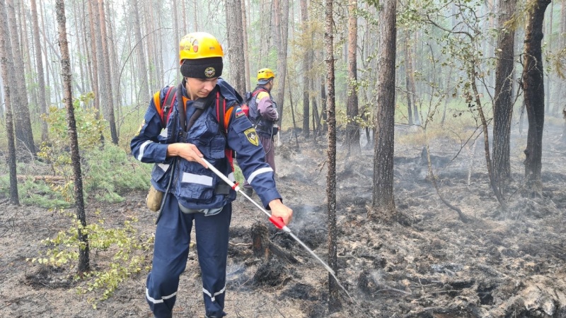
{"type": "Polygon", "coordinates": [[[139,234],[133,226],[138,221],[136,218],[125,220],[122,228],[106,228],[103,218],[98,223],[83,227],[76,216],[68,216],[72,218],[73,225],[57,233],[54,238],[42,241],[49,247],[42,257],[27,260],[56,267],[64,266],[71,271],[76,269],[79,249],[84,248],[79,240],[80,229],[81,233],[88,235],[91,251],[98,257],[108,259],[100,269],[74,276],[76,281],[85,281],[85,285],[77,288],[77,293],[91,295],[88,302],[94,308],[98,302],[108,299],[129,276],[140,273],[143,269],[149,270],[146,254],[151,249],[154,238],[139,234]]]}

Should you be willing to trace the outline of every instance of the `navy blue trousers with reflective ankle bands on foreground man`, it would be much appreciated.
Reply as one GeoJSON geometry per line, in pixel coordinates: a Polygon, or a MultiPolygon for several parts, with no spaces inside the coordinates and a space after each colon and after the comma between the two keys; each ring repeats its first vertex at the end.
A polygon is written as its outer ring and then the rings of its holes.
{"type": "Polygon", "coordinates": [[[172,317],[179,276],[187,265],[193,220],[206,315],[226,315],[223,310],[231,217],[231,204],[226,204],[215,216],[204,216],[203,213],[185,214],[180,211],[175,196],[168,194],[155,232],[153,267],[146,283],[146,300],[155,317],[172,317]]]}

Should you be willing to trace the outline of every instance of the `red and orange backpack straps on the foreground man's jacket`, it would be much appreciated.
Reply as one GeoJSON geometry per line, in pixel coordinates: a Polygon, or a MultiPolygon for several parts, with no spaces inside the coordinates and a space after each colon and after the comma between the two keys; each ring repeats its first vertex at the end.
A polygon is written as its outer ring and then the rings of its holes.
{"type": "MultiPolygon", "coordinates": [[[[171,86],[167,90],[167,93],[165,94],[165,102],[163,104],[163,107],[161,107],[161,98],[160,98],[161,92],[157,92],[154,94],[154,104],[159,114],[159,117],[161,117],[161,124],[163,125],[163,127],[165,127],[167,122],[169,121],[169,117],[171,116],[171,108],[172,108],[171,106],[175,103],[175,99],[177,98],[177,95],[181,95],[181,94],[177,94],[178,90],[179,93],[181,92],[180,85],[179,87],[171,86]]],[[[226,137],[226,135],[228,134],[228,126],[230,124],[230,116],[232,114],[233,106],[236,105],[236,103],[234,102],[231,105],[226,105],[226,100],[222,97],[222,95],[220,95],[219,90],[215,90],[214,93],[216,93],[216,103],[215,103],[216,120],[219,123],[220,132],[224,135],[224,137],[226,137]]],[[[237,95],[236,93],[236,96],[238,97],[239,95],[237,95]]],[[[183,105],[187,105],[187,100],[188,98],[185,98],[185,96],[183,96],[183,105]]],[[[182,113],[183,116],[181,117],[185,119],[185,115],[184,115],[185,109],[183,109],[182,113]]],[[[188,124],[186,124],[184,120],[180,121],[181,126],[183,126],[183,134],[187,134],[187,131],[189,131],[192,124],[195,124],[196,119],[201,113],[202,112],[198,112],[197,110],[197,112],[195,112],[195,114],[193,114],[193,116],[189,119],[188,124]]],[[[235,153],[230,148],[226,148],[224,152],[226,153],[226,158],[228,158],[228,162],[230,163],[230,166],[232,167],[232,171],[233,171],[234,170],[233,158],[235,156],[235,153]]]]}

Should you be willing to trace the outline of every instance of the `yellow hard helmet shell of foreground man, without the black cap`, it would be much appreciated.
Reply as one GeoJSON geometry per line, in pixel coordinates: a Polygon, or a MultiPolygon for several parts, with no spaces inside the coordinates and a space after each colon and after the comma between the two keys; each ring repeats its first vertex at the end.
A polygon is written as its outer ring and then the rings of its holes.
{"type": "Polygon", "coordinates": [[[224,57],[224,50],[216,37],[206,32],[185,35],[179,43],[179,60],[224,57]]]}

